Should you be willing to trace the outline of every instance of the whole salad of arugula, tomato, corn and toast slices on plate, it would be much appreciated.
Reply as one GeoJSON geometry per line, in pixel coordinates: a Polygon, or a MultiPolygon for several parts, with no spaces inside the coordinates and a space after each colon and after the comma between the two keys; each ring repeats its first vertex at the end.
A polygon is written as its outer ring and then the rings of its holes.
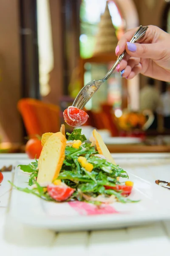
{"type": "Polygon", "coordinates": [[[81,129],[65,134],[62,125],[57,133],[42,135],[40,158],[28,165],[19,165],[28,173],[28,186],[16,189],[46,201],[84,201],[91,204],[136,202],[128,196],[133,182],[116,165],[101,135],[94,130],[87,142],[81,129]],[[126,180],[126,181],[123,181],[126,180]]]}

